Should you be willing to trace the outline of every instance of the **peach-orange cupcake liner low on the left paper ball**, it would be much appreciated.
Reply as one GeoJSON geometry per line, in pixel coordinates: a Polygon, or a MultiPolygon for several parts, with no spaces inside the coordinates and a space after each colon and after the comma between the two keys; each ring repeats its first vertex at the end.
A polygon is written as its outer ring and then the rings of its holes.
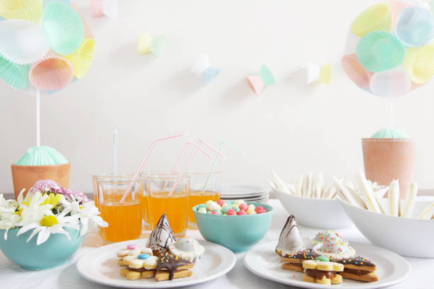
{"type": "Polygon", "coordinates": [[[43,60],[30,67],[29,81],[36,88],[55,91],[67,86],[74,79],[74,68],[64,57],[49,52],[43,60]]]}

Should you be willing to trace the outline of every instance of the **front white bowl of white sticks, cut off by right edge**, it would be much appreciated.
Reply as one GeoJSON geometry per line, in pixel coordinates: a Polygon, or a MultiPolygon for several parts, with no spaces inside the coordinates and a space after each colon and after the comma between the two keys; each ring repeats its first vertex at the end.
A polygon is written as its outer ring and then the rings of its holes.
{"type": "MultiPolygon", "coordinates": [[[[416,200],[416,215],[431,201],[416,200]]],[[[343,201],[340,204],[370,242],[402,256],[434,258],[434,220],[419,220],[372,212],[343,201]]]]}

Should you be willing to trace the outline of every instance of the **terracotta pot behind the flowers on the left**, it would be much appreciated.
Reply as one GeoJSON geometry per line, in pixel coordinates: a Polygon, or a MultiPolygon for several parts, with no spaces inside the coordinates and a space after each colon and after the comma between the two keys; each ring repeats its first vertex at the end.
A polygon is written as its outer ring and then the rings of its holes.
{"type": "MultiPolygon", "coordinates": [[[[52,164],[48,166],[16,166],[11,165],[13,191],[15,198],[23,188],[33,187],[36,181],[50,179],[60,183],[60,186],[69,187],[70,164],[52,164]]],[[[26,195],[25,193],[25,195],[26,195]]]]}

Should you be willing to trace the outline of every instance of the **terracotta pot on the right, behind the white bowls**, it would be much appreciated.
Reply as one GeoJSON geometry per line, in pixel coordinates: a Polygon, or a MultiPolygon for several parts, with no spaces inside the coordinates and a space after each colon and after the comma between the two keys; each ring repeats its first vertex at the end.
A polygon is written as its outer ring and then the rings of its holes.
{"type": "Polygon", "coordinates": [[[414,138],[362,139],[366,178],[386,186],[399,179],[401,198],[405,198],[414,177],[417,144],[414,138]]]}

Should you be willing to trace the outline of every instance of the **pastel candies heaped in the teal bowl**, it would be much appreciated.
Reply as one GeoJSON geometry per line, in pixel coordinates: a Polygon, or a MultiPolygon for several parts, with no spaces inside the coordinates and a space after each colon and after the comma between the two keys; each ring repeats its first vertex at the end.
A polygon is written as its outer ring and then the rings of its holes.
{"type": "Polygon", "coordinates": [[[208,200],[204,204],[197,205],[197,212],[207,215],[255,215],[267,212],[262,205],[247,205],[244,200],[235,200],[233,202],[225,200],[208,200]]]}

